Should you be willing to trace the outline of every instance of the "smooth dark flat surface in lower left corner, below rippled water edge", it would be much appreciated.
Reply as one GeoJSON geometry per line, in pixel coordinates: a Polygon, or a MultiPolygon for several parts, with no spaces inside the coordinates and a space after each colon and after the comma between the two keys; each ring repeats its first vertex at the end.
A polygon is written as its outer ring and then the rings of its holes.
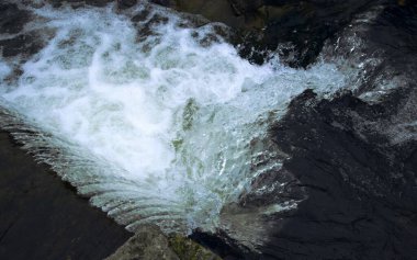
{"type": "Polygon", "coordinates": [[[0,259],[103,259],[132,234],[0,133],[0,259]]]}

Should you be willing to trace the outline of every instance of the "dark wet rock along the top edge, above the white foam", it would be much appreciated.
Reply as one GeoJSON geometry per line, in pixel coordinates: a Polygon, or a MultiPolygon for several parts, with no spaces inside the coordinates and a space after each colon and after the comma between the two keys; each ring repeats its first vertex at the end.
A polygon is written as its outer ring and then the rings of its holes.
{"type": "Polygon", "coordinates": [[[154,1],[179,11],[202,14],[238,30],[234,42],[240,55],[262,64],[270,50],[279,48],[282,59],[293,67],[314,63],[326,39],[346,26],[354,13],[379,0],[284,1],[212,0],[154,1]]]}

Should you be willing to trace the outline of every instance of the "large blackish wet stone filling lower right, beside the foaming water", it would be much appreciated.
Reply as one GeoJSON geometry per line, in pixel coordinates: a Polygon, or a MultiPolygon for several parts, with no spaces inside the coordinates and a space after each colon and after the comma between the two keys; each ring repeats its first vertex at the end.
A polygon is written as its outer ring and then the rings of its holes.
{"type": "Polygon", "coordinates": [[[417,169],[405,168],[402,159],[413,158],[416,143],[386,146],[386,137],[356,129],[356,116],[377,121],[392,113],[388,108],[369,105],[350,94],[318,101],[311,91],[292,102],[271,134],[292,155],[284,169],[300,180],[308,199],[272,231],[263,255],[275,259],[416,256],[417,169]]]}

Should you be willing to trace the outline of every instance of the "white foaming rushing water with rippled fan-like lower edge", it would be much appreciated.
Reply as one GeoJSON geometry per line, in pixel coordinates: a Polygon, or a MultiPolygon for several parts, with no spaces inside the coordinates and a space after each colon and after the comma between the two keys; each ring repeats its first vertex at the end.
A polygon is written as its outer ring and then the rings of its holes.
{"type": "Polygon", "coordinates": [[[187,27],[161,8],[33,11],[25,30],[53,36],[18,80],[0,59],[0,125],[131,229],[215,228],[223,205],[280,167],[253,167],[270,152],[253,145],[269,121],[307,88],[330,95],[346,84],[331,64],[251,65],[211,41],[212,25],[187,27]]]}

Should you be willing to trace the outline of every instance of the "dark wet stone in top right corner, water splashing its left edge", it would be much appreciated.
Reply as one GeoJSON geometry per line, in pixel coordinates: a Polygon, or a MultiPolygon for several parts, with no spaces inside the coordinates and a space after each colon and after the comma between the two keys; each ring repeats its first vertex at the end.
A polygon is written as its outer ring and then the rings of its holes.
{"type": "Polygon", "coordinates": [[[350,67],[361,66],[362,82],[356,95],[372,90],[382,78],[412,78],[417,70],[416,18],[417,5],[376,4],[357,14],[328,41],[322,56],[330,61],[343,59],[350,67]]]}

